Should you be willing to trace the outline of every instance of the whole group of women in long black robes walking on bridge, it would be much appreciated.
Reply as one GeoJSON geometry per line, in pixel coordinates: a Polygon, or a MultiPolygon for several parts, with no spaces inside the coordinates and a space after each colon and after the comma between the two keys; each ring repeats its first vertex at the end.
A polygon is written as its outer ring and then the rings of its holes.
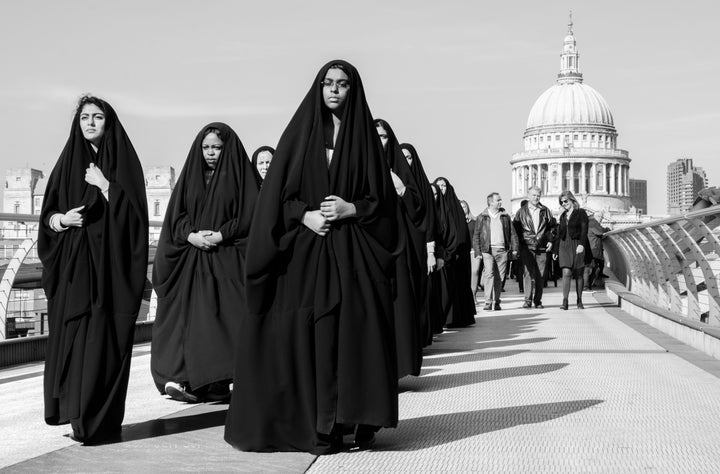
{"type": "MultiPolygon", "coordinates": [[[[438,181],[433,194],[416,150],[373,121],[357,70],[341,60],[323,66],[276,149],[252,162],[230,127],[203,127],[155,255],[158,390],[223,399],[234,381],[225,439],[242,450],[336,452],[353,431],[370,446],[397,425],[398,378],[419,374],[432,333],[474,321],[474,305],[452,291],[469,293],[459,282],[466,226],[438,181]],[[432,272],[440,254],[445,266],[432,272]]],[[[147,273],[144,184],[115,112],[83,98],[38,248],[45,417],[86,443],[122,424],[147,273]]]]}

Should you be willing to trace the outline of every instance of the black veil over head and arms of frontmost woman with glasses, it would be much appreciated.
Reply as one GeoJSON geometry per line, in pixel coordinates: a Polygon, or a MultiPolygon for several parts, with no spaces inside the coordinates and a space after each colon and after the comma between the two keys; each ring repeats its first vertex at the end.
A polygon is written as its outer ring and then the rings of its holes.
{"type": "MultiPolygon", "coordinates": [[[[371,245],[389,252],[396,250],[396,193],[362,81],[354,66],[335,60],[320,69],[278,142],[272,166],[274,171],[263,182],[250,231],[247,284],[251,313],[262,312],[271,302],[267,285],[273,275],[282,271],[283,256],[293,247],[303,214],[319,209],[329,195],[355,204],[357,215],[351,221],[367,232],[372,238],[371,245]],[[350,92],[328,167],[327,130],[332,133],[332,118],[325,107],[320,83],[330,66],[336,64],[348,75],[350,92]]],[[[344,225],[342,221],[337,222],[333,228],[344,225]]],[[[331,230],[328,237],[316,238],[332,241],[333,235],[331,230]]],[[[391,264],[390,258],[381,261],[386,266],[391,264]]],[[[325,281],[331,285],[337,281],[331,275],[326,276],[325,281]]],[[[333,295],[339,298],[334,291],[324,294],[328,298],[333,295]]],[[[326,304],[334,306],[337,301],[328,300],[326,304]]]]}

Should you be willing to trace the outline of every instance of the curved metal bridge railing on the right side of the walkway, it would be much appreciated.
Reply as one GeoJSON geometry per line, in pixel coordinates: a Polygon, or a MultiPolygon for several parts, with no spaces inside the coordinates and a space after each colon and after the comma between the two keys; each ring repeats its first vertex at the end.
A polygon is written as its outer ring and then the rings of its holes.
{"type": "Polygon", "coordinates": [[[646,302],[720,326],[720,205],[608,232],[605,254],[646,302]]]}

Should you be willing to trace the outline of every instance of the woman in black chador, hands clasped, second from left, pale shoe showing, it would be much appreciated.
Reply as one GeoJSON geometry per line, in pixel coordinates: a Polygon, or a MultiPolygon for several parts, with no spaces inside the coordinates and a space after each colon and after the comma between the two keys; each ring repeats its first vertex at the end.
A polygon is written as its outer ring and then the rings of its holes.
{"type": "Polygon", "coordinates": [[[175,400],[229,396],[258,188],[235,132],[224,123],[203,127],[170,197],[153,266],[152,376],[175,400]]]}

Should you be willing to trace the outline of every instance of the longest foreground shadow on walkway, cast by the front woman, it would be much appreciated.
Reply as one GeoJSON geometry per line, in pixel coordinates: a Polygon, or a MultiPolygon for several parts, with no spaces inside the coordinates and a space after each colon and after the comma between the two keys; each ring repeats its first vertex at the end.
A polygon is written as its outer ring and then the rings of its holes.
{"type": "Polygon", "coordinates": [[[432,448],[518,425],[551,421],[603,401],[572,400],[412,418],[403,420],[396,430],[381,431],[373,449],[417,451],[432,448]]]}

